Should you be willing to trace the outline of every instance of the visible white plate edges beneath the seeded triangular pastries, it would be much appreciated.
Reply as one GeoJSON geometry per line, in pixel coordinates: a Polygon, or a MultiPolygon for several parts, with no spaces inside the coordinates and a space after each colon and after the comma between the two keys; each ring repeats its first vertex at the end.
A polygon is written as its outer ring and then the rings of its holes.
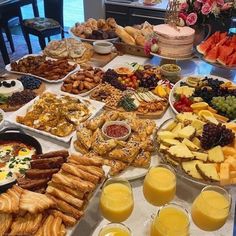
{"type": "MultiPolygon", "coordinates": [[[[76,139],[77,139],[77,137],[76,137],[76,133],[75,133],[71,139],[69,152],[70,152],[70,154],[81,155],[81,153],[77,152],[74,148],[74,142],[76,141],[76,139]]],[[[158,163],[159,163],[159,158],[157,157],[157,155],[153,155],[151,157],[150,167],[156,166],[156,165],[158,165],[158,163]]],[[[147,172],[148,172],[148,169],[145,169],[145,168],[129,167],[125,171],[123,171],[121,174],[116,175],[116,177],[124,178],[126,180],[134,180],[134,179],[138,179],[138,178],[145,176],[147,174],[147,172]]]]}

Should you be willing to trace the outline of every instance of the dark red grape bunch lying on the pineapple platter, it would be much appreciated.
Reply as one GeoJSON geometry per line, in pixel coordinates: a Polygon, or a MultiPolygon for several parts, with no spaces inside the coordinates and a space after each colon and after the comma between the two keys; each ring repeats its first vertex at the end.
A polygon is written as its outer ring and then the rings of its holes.
{"type": "Polygon", "coordinates": [[[232,130],[227,129],[225,125],[207,123],[203,126],[201,137],[201,146],[208,150],[217,145],[225,146],[234,141],[235,135],[232,130]]]}

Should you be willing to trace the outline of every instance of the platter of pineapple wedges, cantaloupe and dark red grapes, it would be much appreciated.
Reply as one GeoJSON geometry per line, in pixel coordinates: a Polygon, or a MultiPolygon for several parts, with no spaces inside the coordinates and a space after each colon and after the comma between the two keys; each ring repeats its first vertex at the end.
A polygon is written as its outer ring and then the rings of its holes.
{"type": "Polygon", "coordinates": [[[192,112],[165,121],[157,145],[165,163],[177,174],[199,184],[236,183],[236,124],[214,124],[192,112]]]}

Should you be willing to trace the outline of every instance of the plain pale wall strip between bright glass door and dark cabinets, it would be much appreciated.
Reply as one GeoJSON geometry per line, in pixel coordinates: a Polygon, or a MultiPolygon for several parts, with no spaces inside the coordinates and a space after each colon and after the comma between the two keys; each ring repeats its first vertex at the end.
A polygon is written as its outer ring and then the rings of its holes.
{"type": "Polygon", "coordinates": [[[105,18],[104,0],[84,0],[84,19],[105,18]]]}

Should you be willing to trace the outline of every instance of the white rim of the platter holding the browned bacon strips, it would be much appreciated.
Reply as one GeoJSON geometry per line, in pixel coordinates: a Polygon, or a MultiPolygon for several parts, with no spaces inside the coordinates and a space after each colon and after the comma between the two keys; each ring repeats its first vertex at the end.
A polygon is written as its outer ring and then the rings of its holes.
{"type": "MultiPolygon", "coordinates": [[[[26,56],[20,58],[19,60],[21,60],[21,59],[23,59],[23,58],[27,58],[27,57],[29,57],[29,56],[35,56],[35,57],[36,57],[36,56],[42,56],[42,54],[28,54],[28,55],[26,55],[26,56]]],[[[16,62],[18,62],[19,60],[17,60],[16,62]]],[[[54,60],[54,61],[55,61],[55,60],[57,60],[57,59],[46,57],[46,60],[54,60]]],[[[73,62],[68,62],[68,63],[71,64],[71,65],[74,65],[73,62]]],[[[41,79],[41,80],[46,81],[46,82],[48,82],[48,83],[59,83],[59,82],[62,82],[64,79],[66,79],[69,75],[71,75],[71,74],[73,74],[73,73],[79,71],[79,70],[80,70],[80,66],[77,65],[77,67],[76,67],[74,70],[72,70],[72,71],[71,71],[70,73],[68,73],[65,77],[63,77],[63,78],[61,78],[61,79],[59,79],[59,80],[48,80],[48,79],[45,79],[44,77],[37,76],[37,75],[33,75],[33,74],[30,74],[30,73],[23,73],[23,72],[19,72],[19,71],[13,71],[13,70],[11,69],[11,64],[6,65],[6,66],[5,66],[5,69],[6,69],[8,72],[14,73],[14,74],[19,74],[19,75],[31,75],[31,76],[34,76],[35,78],[41,79]]]]}

